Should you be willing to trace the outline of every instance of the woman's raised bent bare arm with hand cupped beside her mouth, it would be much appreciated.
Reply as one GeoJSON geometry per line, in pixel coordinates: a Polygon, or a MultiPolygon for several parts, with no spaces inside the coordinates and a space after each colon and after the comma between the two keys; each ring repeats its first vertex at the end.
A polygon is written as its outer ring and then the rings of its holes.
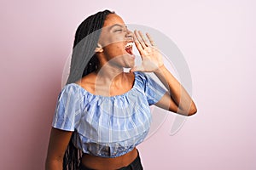
{"type": "Polygon", "coordinates": [[[134,33],[136,47],[142,56],[142,65],[132,68],[131,71],[154,72],[169,91],[155,105],[184,116],[194,115],[197,111],[195,103],[183,86],[166,69],[162,55],[156,48],[153,39],[146,34],[147,40],[141,31],[134,31],[134,33]]]}

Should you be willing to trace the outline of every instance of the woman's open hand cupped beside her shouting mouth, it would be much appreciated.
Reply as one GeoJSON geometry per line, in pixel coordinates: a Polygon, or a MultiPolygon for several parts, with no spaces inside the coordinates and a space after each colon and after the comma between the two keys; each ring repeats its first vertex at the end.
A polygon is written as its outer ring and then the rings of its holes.
{"type": "Polygon", "coordinates": [[[143,36],[141,31],[134,31],[134,42],[141,54],[142,64],[135,66],[131,71],[154,72],[164,65],[162,55],[156,48],[152,37],[146,33],[148,39],[143,36]]]}

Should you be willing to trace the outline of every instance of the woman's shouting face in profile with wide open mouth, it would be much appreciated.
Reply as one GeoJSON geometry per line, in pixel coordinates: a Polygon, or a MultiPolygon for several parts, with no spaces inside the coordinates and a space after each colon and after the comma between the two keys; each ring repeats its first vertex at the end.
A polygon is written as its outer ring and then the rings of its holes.
{"type": "Polygon", "coordinates": [[[100,57],[119,67],[133,67],[135,55],[132,54],[133,33],[127,29],[124,20],[117,14],[108,14],[99,44],[103,51],[100,57]]]}

